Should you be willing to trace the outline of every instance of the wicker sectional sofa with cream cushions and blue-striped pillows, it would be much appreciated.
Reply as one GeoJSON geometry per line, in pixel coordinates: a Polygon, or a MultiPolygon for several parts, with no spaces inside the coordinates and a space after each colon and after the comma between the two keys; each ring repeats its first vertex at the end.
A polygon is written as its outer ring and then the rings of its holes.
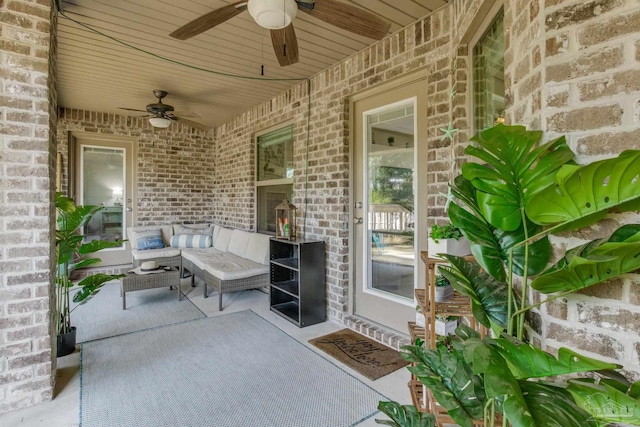
{"type": "Polygon", "coordinates": [[[134,266],[156,260],[180,268],[180,277],[189,271],[192,286],[195,276],[205,283],[205,298],[208,286],[218,292],[220,311],[222,294],[269,284],[270,236],[266,234],[208,224],[132,227],[128,232],[134,266]],[[154,248],[154,244],[164,247],[154,248]]]}

